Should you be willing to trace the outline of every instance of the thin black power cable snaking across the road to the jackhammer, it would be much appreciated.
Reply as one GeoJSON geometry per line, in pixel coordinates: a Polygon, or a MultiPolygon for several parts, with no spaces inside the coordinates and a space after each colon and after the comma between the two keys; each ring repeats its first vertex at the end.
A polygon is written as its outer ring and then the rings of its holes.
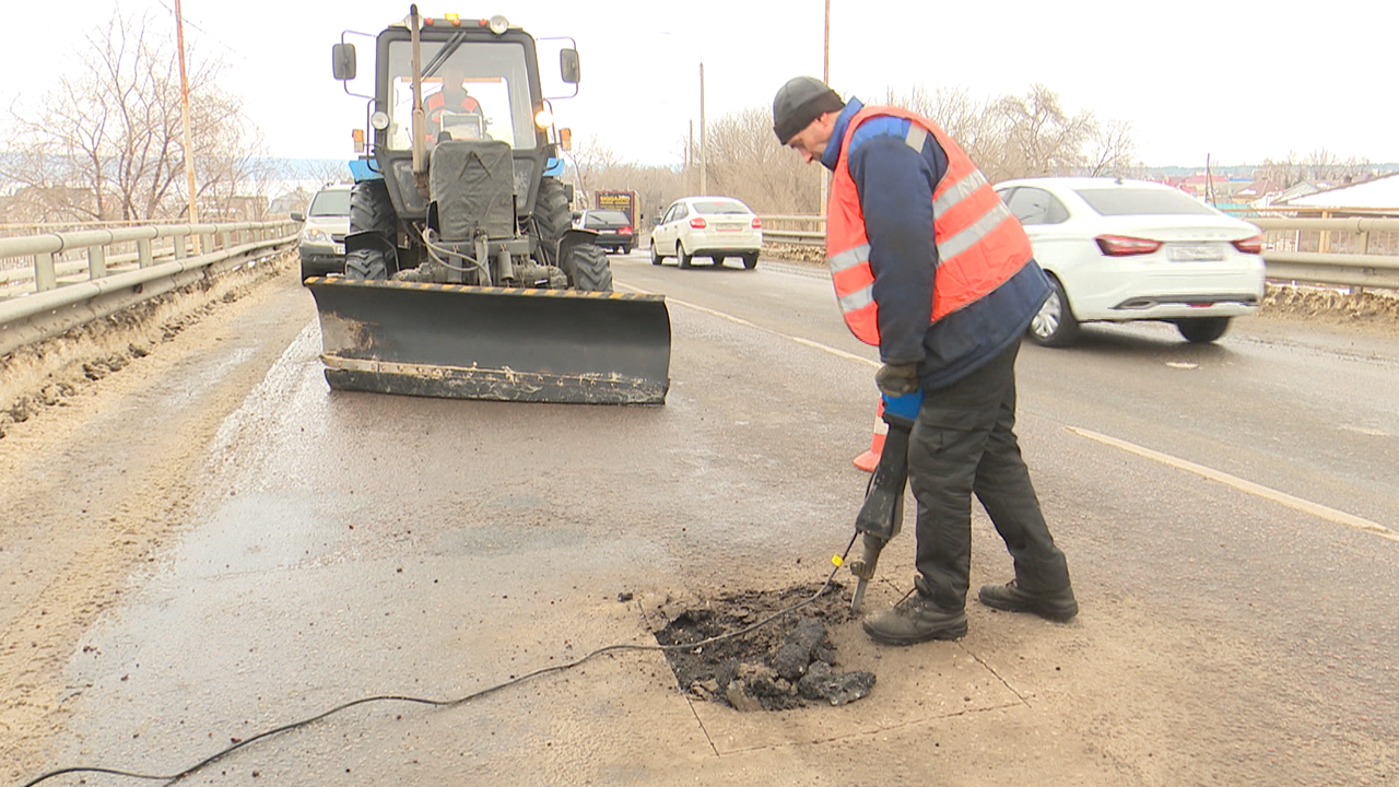
{"type": "Polygon", "coordinates": [[[488,686],[485,689],[481,689],[480,692],[474,692],[474,693],[466,695],[463,697],[456,697],[456,699],[452,699],[452,700],[431,700],[431,699],[424,699],[424,697],[411,697],[411,696],[406,696],[406,695],[376,695],[376,696],[372,696],[372,697],[361,697],[361,699],[357,699],[357,700],[350,700],[347,703],[337,704],[336,707],[333,707],[333,709],[330,709],[327,711],[318,713],[316,716],[312,716],[309,718],[302,718],[301,721],[292,721],[291,724],[283,724],[281,727],[276,727],[273,730],[266,730],[266,731],[259,732],[259,734],[256,734],[256,735],[253,735],[250,738],[245,738],[245,739],[234,744],[232,746],[228,746],[228,748],[225,748],[222,751],[218,751],[218,752],[215,752],[215,753],[213,753],[213,755],[210,755],[210,756],[199,760],[197,763],[186,767],[185,770],[182,770],[179,773],[152,774],[152,773],[136,773],[136,772],[130,772],[130,770],[118,770],[118,769],[112,769],[112,767],[76,766],[76,767],[60,767],[57,770],[50,770],[50,772],[48,772],[48,773],[42,774],[42,776],[36,776],[35,779],[31,779],[29,781],[25,781],[20,787],[34,787],[35,784],[39,784],[41,781],[48,781],[49,779],[53,779],[56,776],[63,776],[66,773],[108,773],[108,774],[112,774],[112,776],[125,776],[125,777],[129,777],[129,779],[143,779],[143,780],[147,780],[147,781],[165,781],[166,786],[176,784],[176,783],[183,781],[185,779],[187,779],[187,777],[199,773],[200,770],[208,767],[210,765],[214,765],[215,762],[224,759],[225,756],[236,752],[238,749],[242,749],[243,746],[249,746],[249,745],[252,745],[252,744],[255,744],[257,741],[262,741],[262,739],[266,739],[266,738],[271,738],[273,735],[278,735],[281,732],[291,732],[292,730],[297,730],[297,728],[301,728],[301,727],[306,727],[308,724],[313,724],[316,721],[320,721],[322,718],[326,718],[329,716],[334,716],[334,714],[340,713],[341,710],[348,710],[348,709],[360,706],[360,704],[368,704],[368,703],[376,703],[376,702],[390,702],[392,700],[392,702],[406,702],[406,703],[425,704],[425,706],[432,706],[432,707],[456,707],[459,704],[466,704],[466,703],[469,703],[471,700],[478,700],[478,699],[481,699],[481,697],[484,697],[487,695],[492,695],[495,692],[499,692],[501,689],[513,686],[516,683],[523,683],[525,681],[529,681],[532,678],[539,678],[541,675],[548,675],[551,672],[562,672],[565,669],[572,669],[572,668],[578,667],[579,664],[583,664],[585,661],[588,661],[588,660],[590,660],[593,657],[602,655],[604,653],[611,653],[611,651],[618,651],[618,650],[659,650],[662,653],[672,651],[672,650],[693,650],[693,648],[697,648],[697,647],[706,647],[706,646],[709,646],[712,643],[718,643],[718,641],[723,641],[723,640],[732,640],[734,637],[741,637],[743,634],[747,634],[750,632],[761,629],[762,626],[767,626],[768,623],[771,623],[771,622],[782,618],[783,615],[789,615],[792,612],[796,612],[797,609],[802,609],[803,606],[814,602],[817,598],[821,598],[821,595],[825,594],[825,591],[831,588],[831,581],[835,580],[835,573],[841,570],[841,564],[844,564],[845,559],[851,555],[851,548],[855,546],[855,539],[859,538],[859,535],[860,535],[859,531],[856,531],[851,536],[851,541],[849,541],[849,543],[845,545],[845,552],[841,553],[841,559],[837,562],[837,566],[834,569],[831,569],[830,574],[825,576],[825,581],[821,583],[821,587],[814,594],[811,594],[811,598],[807,598],[804,601],[799,601],[797,604],[793,604],[792,606],[779,609],[779,611],[774,612],[772,615],[768,615],[767,618],[758,620],[757,623],[750,623],[748,626],[744,626],[743,629],[739,629],[737,632],[729,632],[726,634],[716,634],[713,637],[709,637],[706,640],[700,640],[697,643],[676,643],[676,644],[672,644],[672,646],[660,646],[660,644],[656,644],[656,646],[641,646],[641,644],[631,644],[631,643],[621,643],[621,644],[604,646],[604,647],[600,647],[600,648],[589,653],[588,655],[583,655],[582,658],[579,658],[576,661],[569,661],[568,664],[557,664],[554,667],[544,667],[541,669],[536,669],[533,672],[527,672],[525,675],[520,675],[519,678],[512,678],[512,679],[509,679],[509,681],[506,681],[504,683],[497,683],[494,686],[488,686]]]}

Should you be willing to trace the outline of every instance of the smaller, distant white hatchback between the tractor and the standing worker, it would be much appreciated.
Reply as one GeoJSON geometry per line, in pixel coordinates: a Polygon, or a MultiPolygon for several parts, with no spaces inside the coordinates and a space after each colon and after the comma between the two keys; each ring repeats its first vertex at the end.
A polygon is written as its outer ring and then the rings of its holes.
{"type": "Polygon", "coordinates": [[[676,258],[680,267],[690,267],[697,256],[723,265],[725,258],[736,256],[753,270],[761,249],[762,221],[732,197],[677,199],[651,231],[651,265],[667,256],[676,258]]]}

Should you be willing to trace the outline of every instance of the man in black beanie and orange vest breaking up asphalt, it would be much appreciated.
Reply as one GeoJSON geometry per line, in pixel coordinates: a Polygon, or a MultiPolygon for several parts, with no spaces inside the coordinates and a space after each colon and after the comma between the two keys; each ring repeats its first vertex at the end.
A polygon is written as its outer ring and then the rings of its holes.
{"type": "Polygon", "coordinates": [[[923,392],[908,451],[918,576],[908,597],[865,618],[865,632],[887,644],[967,633],[974,494],[1016,570],[979,601],[1073,618],[1067,562],[1014,433],[1016,356],[1049,295],[1024,228],[928,118],[796,77],[774,98],[772,120],[783,146],[834,172],[831,280],[851,332],[880,349],[876,385],[888,396],[923,392]]]}

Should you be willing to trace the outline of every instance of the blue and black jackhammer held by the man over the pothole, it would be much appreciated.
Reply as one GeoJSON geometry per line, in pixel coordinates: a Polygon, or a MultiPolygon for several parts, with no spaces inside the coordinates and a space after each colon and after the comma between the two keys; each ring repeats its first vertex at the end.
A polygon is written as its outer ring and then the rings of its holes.
{"type": "Polygon", "coordinates": [[[879,465],[865,493],[865,504],[855,517],[855,531],[865,534],[863,552],[849,562],[851,573],[859,580],[851,598],[851,612],[859,613],[865,602],[865,585],[874,578],[879,553],[898,535],[904,524],[904,489],[908,486],[908,437],[923,403],[923,392],[883,398],[883,419],[888,424],[879,465]]]}

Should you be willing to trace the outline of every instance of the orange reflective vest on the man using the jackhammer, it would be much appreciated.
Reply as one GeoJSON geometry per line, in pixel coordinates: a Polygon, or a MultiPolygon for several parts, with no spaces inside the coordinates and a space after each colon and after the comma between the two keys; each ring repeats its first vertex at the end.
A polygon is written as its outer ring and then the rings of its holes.
{"type": "Polygon", "coordinates": [[[922,153],[928,134],[933,134],[947,154],[947,172],[933,189],[933,242],[937,245],[933,322],[990,293],[1031,258],[1030,238],[1020,221],[937,123],[895,106],[860,109],[846,125],[841,157],[835,164],[825,216],[825,256],[845,325],[856,339],[874,346],[880,343],[874,272],[870,269],[860,195],[851,178],[849,154],[855,129],[880,115],[912,122],[905,141],[914,150],[922,153]]]}

